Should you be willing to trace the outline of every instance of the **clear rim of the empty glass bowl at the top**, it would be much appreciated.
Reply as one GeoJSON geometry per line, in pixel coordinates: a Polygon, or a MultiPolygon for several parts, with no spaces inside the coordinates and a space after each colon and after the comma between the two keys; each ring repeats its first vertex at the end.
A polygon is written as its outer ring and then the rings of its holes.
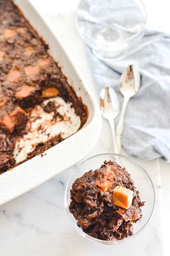
{"type": "MultiPolygon", "coordinates": [[[[125,39],[125,40],[122,40],[121,42],[112,43],[112,45],[109,45],[109,44],[107,44],[107,43],[101,43],[101,44],[106,45],[107,47],[109,47],[109,46],[110,46],[110,47],[113,47],[113,46],[116,46],[116,45],[125,44],[125,43],[127,43],[127,42],[129,42],[129,41],[135,39],[138,35],[141,34],[141,32],[144,30],[144,28],[145,28],[145,26],[146,26],[146,21],[147,21],[148,15],[147,15],[146,7],[145,7],[143,1],[142,1],[142,0],[135,0],[135,1],[140,2],[141,6],[143,7],[143,11],[145,12],[145,20],[144,20],[144,24],[143,24],[143,26],[141,27],[141,29],[140,29],[136,34],[134,34],[133,36],[131,36],[131,37],[125,39]]],[[[80,0],[80,3],[81,3],[81,0],[80,0]]],[[[80,26],[78,25],[78,22],[77,22],[77,21],[78,21],[77,11],[78,11],[78,8],[79,8],[79,6],[80,6],[80,3],[78,4],[78,7],[77,7],[77,9],[76,9],[76,17],[75,17],[75,18],[76,18],[76,27],[77,27],[77,29],[78,29],[78,31],[79,31],[79,33],[80,33],[81,36],[86,35],[87,37],[90,38],[90,40],[96,42],[97,40],[95,40],[94,38],[92,38],[91,36],[89,36],[89,34],[87,34],[86,32],[83,32],[83,33],[82,33],[82,32],[81,32],[81,29],[80,29],[80,26]]],[[[84,38],[83,38],[83,39],[84,39],[84,38]]]]}

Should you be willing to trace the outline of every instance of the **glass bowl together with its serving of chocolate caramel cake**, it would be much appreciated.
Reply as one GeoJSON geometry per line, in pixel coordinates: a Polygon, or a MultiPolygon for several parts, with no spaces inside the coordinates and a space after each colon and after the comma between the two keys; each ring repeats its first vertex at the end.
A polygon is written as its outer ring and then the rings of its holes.
{"type": "MultiPolygon", "coordinates": [[[[104,243],[119,243],[136,236],[150,219],[154,207],[154,190],[150,178],[136,162],[124,156],[120,158],[121,162],[127,162],[128,166],[131,164],[133,170],[136,166],[139,177],[145,176],[150,182],[148,190],[152,197],[151,205],[141,200],[130,170],[127,171],[125,167],[117,164],[114,161],[116,160],[114,154],[94,156],[80,164],[70,177],[65,192],[66,211],[74,226],[77,225],[76,230],[83,236],[104,243]],[[86,166],[90,165],[89,162],[94,167],[96,160],[100,158],[103,161],[103,164],[100,163],[101,166],[98,164],[97,169],[84,171],[86,166]],[[147,212],[148,207],[150,209],[141,221],[145,207],[147,212]],[[74,216],[75,221],[71,215],[74,216]],[[135,225],[137,231],[134,232],[135,225]]],[[[142,199],[146,200],[148,197],[142,199]]]]}

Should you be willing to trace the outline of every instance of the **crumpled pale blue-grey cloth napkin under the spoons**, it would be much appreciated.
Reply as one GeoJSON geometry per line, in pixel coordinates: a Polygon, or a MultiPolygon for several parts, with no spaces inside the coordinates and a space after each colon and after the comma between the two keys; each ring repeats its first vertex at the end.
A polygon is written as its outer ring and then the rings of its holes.
{"type": "MultiPolygon", "coordinates": [[[[119,91],[121,73],[131,64],[141,73],[141,86],[130,98],[124,120],[122,146],[129,155],[170,162],[170,35],[146,30],[133,54],[117,62],[103,62],[87,47],[98,94],[106,86],[119,91]]],[[[119,116],[115,119],[117,125],[119,116]]]]}

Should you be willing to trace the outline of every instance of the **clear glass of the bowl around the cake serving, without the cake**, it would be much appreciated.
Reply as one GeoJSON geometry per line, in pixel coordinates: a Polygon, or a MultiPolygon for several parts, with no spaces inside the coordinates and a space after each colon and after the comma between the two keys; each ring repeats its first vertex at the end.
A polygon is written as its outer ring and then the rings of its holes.
{"type": "MultiPolygon", "coordinates": [[[[128,177],[128,175],[126,177],[128,177]]],[[[80,233],[83,237],[86,237],[90,240],[93,240],[99,243],[104,243],[104,244],[114,245],[114,244],[124,243],[126,241],[129,241],[135,238],[147,226],[152,216],[154,205],[155,205],[154,186],[145,169],[134,160],[131,160],[126,156],[117,155],[117,154],[100,154],[100,155],[93,156],[85,160],[84,162],[82,162],[70,176],[65,189],[65,209],[72,225],[75,227],[77,232],[80,233]],[[90,170],[95,171],[96,169],[100,168],[103,162],[105,162],[105,160],[108,162],[109,160],[111,160],[112,162],[119,162],[119,164],[121,163],[122,167],[126,168],[126,171],[131,176],[131,178],[129,177],[129,180],[131,181],[132,179],[134,181],[134,186],[139,191],[139,196],[141,197],[141,201],[145,201],[145,206],[142,207],[142,213],[141,213],[142,218],[140,218],[140,220],[137,221],[136,223],[133,223],[133,235],[128,236],[127,238],[124,238],[121,240],[113,240],[113,241],[100,240],[98,238],[94,238],[86,234],[85,232],[83,232],[83,230],[80,227],[77,226],[77,220],[74,218],[73,214],[69,211],[69,205],[71,202],[70,190],[72,189],[72,185],[75,182],[75,180],[77,178],[82,177],[86,172],[89,172],[90,170]]],[[[92,218],[94,217],[92,216],[92,218]]],[[[113,220],[114,219],[112,218],[112,221],[113,220]]]]}

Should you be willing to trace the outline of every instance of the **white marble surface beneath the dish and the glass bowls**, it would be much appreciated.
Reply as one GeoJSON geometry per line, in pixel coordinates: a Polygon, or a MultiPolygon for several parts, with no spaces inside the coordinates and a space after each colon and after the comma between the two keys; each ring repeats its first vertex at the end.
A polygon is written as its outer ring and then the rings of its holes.
{"type": "MultiPolygon", "coordinates": [[[[96,94],[84,44],[75,29],[72,12],[75,10],[78,0],[63,0],[62,3],[56,0],[55,4],[54,1],[49,0],[48,5],[46,5],[46,1],[31,1],[58,35],[65,50],[82,73],[82,77],[86,79],[91,90],[96,94]]],[[[102,121],[99,141],[88,156],[109,151],[110,129],[107,121],[102,121]]],[[[162,203],[165,201],[162,201],[160,166],[163,170],[163,193],[166,195],[168,193],[166,177],[169,177],[170,165],[160,163],[158,159],[148,162],[139,160],[138,162],[146,168],[152,177],[156,190],[156,207],[150,223],[137,238],[122,245],[106,246],[86,240],[73,230],[66,216],[63,199],[65,185],[75,168],[74,166],[32,191],[0,206],[0,255],[109,256],[123,253],[132,256],[136,254],[165,255],[163,248],[166,248],[167,244],[163,243],[162,213],[168,216],[168,211],[162,212],[161,210],[162,203]]],[[[166,199],[167,196],[164,196],[164,200],[166,199]]]]}

